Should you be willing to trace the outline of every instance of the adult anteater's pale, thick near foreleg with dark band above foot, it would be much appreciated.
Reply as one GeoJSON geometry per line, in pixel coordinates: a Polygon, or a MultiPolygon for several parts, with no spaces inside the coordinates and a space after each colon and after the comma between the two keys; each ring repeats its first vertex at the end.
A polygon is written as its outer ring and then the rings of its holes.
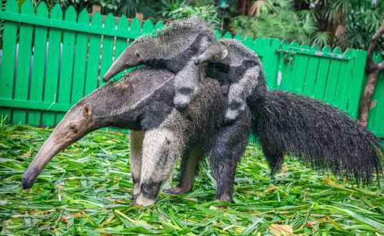
{"type": "Polygon", "coordinates": [[[182,153],[181,147],[182,139],[177,138],[171,130],[157,128],[146,131],[140,193],[135,204],[147,206],[155,203],[162,183],[168,179],[176,158],[182,153]]]}

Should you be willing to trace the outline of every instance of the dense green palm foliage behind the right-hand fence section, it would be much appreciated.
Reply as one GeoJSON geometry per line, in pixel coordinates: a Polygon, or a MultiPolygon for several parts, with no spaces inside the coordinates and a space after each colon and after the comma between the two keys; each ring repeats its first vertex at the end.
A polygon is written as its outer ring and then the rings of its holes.
{"type": "Polygon", "coordinates": [[[230,30],[253,37],[278,37],[306,44],[316,43],[319,46],[331,44],[343,49],[367,49],[384,15],[384,1],[297,2],[304,3],[304,6],[294,6],[293,0],[254,1],[250,8],[254,17],[235,17],[230,30]]]}

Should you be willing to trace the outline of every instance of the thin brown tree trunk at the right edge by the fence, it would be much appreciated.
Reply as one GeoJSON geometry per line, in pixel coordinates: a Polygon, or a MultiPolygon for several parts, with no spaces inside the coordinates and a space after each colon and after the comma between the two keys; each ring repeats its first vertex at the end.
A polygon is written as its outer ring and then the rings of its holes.
{"type": "Polygon", "coordinates": [[[360,117],[358,122],[361,126],[367,127],[368,125],[368,118],[369,118],[369,110],[371,107],[371,100],[372,96],[374,95],[375,88],[376,88],[376,82],[377,82],[377,76],[380,74],[381,71],[384,70],[384,62],[381,62],[380,64],[376,64],[374,62],[374,50],[376,49],[376,43],[378,39],[383,35],[384,33],[384,21],[381,24],[381,27],[378,28],[378,31],[374,34],[372,37],[371,42],[369,43],[368,48],[368,56],[367,56],[367,64],[365,67],[365,70],[368,73],[368,81],[364,88],[363,97],[360,101],[360,117]]]}

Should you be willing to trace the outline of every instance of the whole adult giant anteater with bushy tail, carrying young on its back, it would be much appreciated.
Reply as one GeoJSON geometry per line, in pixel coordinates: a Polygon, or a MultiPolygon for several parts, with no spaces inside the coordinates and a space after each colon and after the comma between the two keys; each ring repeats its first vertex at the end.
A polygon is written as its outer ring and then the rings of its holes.
{"type": "Polygon", "coordinates": [[[155,202],[159,187],[182,158],[180,184],[168,192],[192,188],[202,155],[211,155],[218,182],[218,199],[232,201],[234,171],[252,130],[260,137],[272,172],[283,155],[310,162],[315,169],[369,182],[381,176],[381,146],[372,133],[343,112],[320,101],[286,92],[267,92],[252,103],[232,126],[222,126],[225,96],[213,80],[200,81],[200,92],[189,110],[173,108],[174,74],[161,69],[139,69],[117,83],[101,87],[79,101],[53,130],[23,175],[29,188],[53,156],[85,134],[103,126],[130,128],[134,201],[155,202]],[[252,126],[252,128],[251,128],[252,126]]]}

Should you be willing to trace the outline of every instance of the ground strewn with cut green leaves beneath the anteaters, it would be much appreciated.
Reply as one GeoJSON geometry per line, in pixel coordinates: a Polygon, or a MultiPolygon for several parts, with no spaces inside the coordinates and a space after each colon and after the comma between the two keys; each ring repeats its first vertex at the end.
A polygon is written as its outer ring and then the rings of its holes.
{"type": "Polygon", "coordinates": [[[0,129],[3,235],[384,235],[384,191],[376,185],[342,183],[295,160],[286,160],[271,184],[254,145],[237,169],[231,204],[214,201],[205,162],[193,192],[162,193],[156,205],[131,207],[128,138],[102,131],[53,158],[33,190],[23,191],[21,174],[51,130],[0,129]]]}

